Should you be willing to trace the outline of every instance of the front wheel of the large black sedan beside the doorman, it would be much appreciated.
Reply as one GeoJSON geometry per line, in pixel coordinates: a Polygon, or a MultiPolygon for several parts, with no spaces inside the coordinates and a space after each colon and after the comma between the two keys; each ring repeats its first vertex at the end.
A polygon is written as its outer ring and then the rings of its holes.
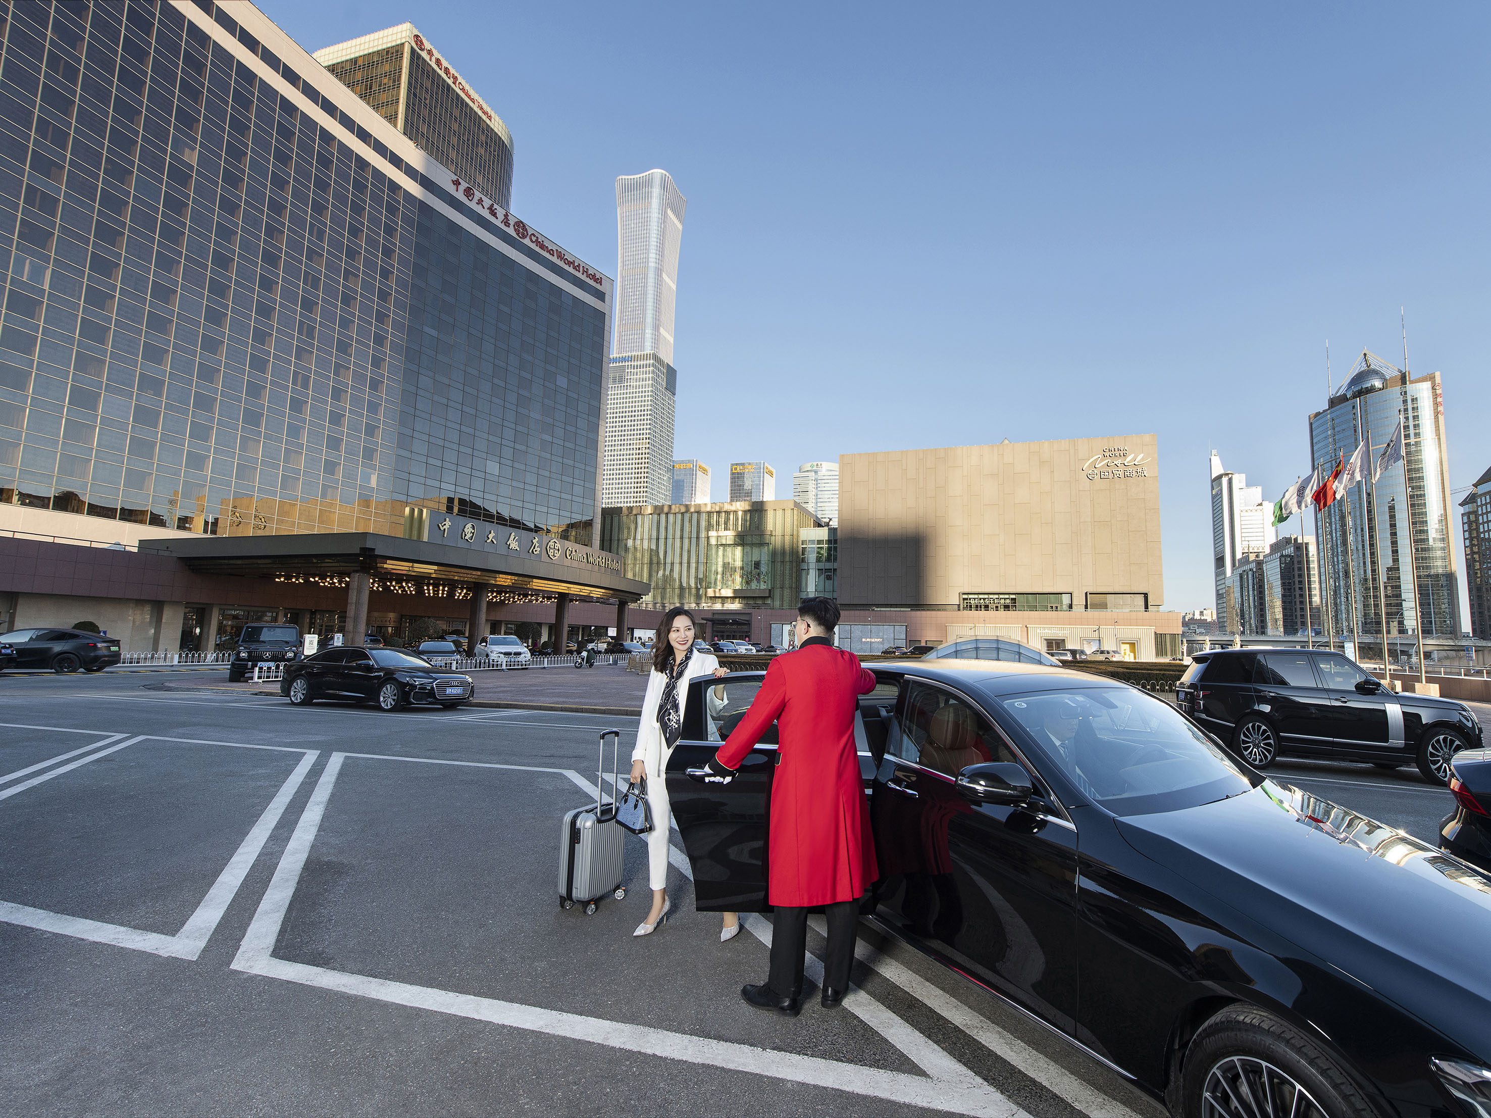
{"type": "Polygon", "coordinates": [[[1376,1118],[1357,1084],[1312,1038],[1252,1006],[1223,1009],[1196,1033],[1181,1066],[1178,1114],[1376,1118]]]}

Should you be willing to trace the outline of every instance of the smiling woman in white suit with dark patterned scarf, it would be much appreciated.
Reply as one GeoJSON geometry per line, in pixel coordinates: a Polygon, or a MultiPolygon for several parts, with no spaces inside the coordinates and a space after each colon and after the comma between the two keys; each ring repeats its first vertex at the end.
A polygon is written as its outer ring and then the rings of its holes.
{"type": "MultiPolygon", "coordinates": [[[[713,653],[693,647],[693,614],[683,608],[669,610],[662,619],[659,639],[653,651],[653,669],[647,677],[647,696],[643,699],[643,717],[637,726],[637,748],[632,750],[632,783],[647,781],[647,803],[652,808],[653,829],[647,835],[647,871],[653,890],[652,912],[637,926],[634,936],[650,936],[668,918],[672,905],[668,903],[668,783],[663,774],[668,757],[683,732],[684,705],[689,699],[689,683],[707,675],[728,675],[713,653]]],[[[711,705],[716,699],[711,689],[711,705]]],[[[723,696],[719,696],[723,698],[723,696]]],[[[714,723],[708,723],[711,738],[714,723]]],[[[720,941],[740,932],[735,912],[725,914],[720,941]]]]}

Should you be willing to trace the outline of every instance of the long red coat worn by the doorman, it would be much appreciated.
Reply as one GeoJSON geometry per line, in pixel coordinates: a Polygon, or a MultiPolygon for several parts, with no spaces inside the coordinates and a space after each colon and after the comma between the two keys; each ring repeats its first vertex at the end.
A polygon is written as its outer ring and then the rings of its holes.
{"type": "Polygon", "coordinates": [[[813,908],[856,900],[875,881],[875,842],[854,748],[859,696],[875,677],[854,653],[828,641],[771,662],[766,681],[729,741],[720,765],[741,760],[777,721],[780,760],[771,786],[766,899],[813,908]]]}

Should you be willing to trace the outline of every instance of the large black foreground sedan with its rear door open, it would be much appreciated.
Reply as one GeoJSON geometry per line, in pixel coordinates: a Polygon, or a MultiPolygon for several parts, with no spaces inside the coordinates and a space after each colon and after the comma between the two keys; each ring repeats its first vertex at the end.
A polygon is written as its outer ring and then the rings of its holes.
{"type": "MultiPolygon", "coordinates": [[[[1491,1118],[1491,877],[1264,777],[1123,683],[999,660],[874,672],[856,738],[878,929],[1176,1118],[1491,1118]]],[[[704,911],[768,908],[774,730],[704,783],[762,680],[690,699],[668,763],[704,911]]]]}

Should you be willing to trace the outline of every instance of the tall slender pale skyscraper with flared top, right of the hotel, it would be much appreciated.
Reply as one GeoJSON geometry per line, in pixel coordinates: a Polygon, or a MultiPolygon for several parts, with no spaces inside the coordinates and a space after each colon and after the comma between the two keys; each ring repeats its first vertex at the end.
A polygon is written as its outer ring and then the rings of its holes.
{"type": "Polygon", "coordinates": [[[616,180],[616,341],[605,398],[604,505],[672,495],[672,316],[687,201],[666,171],[616,180]]]}

